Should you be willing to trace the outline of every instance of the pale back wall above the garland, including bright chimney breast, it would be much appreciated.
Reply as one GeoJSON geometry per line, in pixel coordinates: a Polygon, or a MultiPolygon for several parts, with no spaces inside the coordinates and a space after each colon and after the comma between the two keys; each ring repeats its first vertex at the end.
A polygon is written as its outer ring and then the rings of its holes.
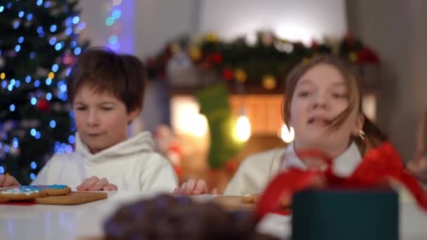
{"type": "Polygon", "coordinates": [[[225,39],[272,29],[278,36],[310,43],[346,34],[345,0],[91,0],[80,1],[92,45],[145,57],[180,34],[213,31],[225,39]],[[119,19],[117,11],[120,11],[119,19]],[[114,18],[114,24],[109,25],[114,18]],[[113,44],[114,45],[114,44],[113,44]]]}

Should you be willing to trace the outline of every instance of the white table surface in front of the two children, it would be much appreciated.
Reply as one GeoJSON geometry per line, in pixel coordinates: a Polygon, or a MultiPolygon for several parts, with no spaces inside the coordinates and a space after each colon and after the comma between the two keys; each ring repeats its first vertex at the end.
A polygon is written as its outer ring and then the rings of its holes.
{"type": "MultiPolygon", "coordinates": [[[[137,192],[109,192],[104,200],[76,206],[0,204],[0,239],[86,239],[102,236],[103,222],[126,202],[150,197],[137,192]]],[[[193,196],[197,201],[209,201],[213,195],[193,196]]],[[[261,231],[290,235],[290,218],[270,215],[262,222],[261,231]]],[[[400,204],[400,239],[427,239],[427,213],[412,201],[400,204]]]]}

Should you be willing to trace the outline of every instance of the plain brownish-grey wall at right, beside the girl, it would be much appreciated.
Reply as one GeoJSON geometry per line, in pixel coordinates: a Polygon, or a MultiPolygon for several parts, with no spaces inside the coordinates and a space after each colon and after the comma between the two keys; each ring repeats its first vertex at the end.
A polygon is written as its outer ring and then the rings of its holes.
{"type": "Polygon", "coordinates": [[[427,1],[348,0],[350,31],[381,56],[377,123],[402,157],[415,154],[427,107],[427,1]]]}

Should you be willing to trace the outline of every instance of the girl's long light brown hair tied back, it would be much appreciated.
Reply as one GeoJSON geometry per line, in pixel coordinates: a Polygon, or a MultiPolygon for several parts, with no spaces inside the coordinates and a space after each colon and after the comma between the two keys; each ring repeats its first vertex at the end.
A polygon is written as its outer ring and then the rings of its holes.
{"type": "MultiPolygon", "coordinates": [[[[301,76],[308,72],[309,69],[315,67],[316,65],[326,64],[332,67],[335,67],[343,76],[348,89],[348,107],[344,109],[338,116],[336,116],[331,121],[331,129],[337,129],[341,127],[344,121],[348,116],[353,112],[353,109],[357,107],[357,110],[360,114],[362,112],[362,93],[360,91],[360,81],[357,79],[356,74],[350,69],[350,63],[341,60],[334,55],[318,55],[306,62],[301,62],[299,65],[296,65],[294,69],[289,72],[287,75],[287,86],[284,93],[284,104],[282,109],[282,116],[284,123],[289,126],[289,119],[291,115],[291,102],[292,96],[296,88],[298,80],[301,79],[301,76]]],[[[364,116],[364,114],[363,114],[364,116]]],[[[360,149],[362,154],[366,152],[367,149],[371,147],[377,147],[384,140],[386,140],[386,135],[384,135],[377,126],[375,126],[372,121],[370,121],[366,116],[364,116],[364,124],[362,131],[364,132],[364,139],[359,138],[360,136],[352,136],[353,140],[357,143],[357,146],[360,149]]]]}

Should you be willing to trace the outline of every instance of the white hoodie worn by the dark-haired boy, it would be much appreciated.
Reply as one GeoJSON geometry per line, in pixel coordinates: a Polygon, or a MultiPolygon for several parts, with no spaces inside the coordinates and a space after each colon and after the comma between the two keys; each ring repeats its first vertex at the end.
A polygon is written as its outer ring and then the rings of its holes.
{"type": "Polygon", "coordinates": [[[173,192],[178,184],[170,162],[153,151],[151,134],[143,132],[96,154],[76,134],[75,152],[55,154],[32,185],[75,188],[92,176],[106,178],[119,190],[173,192]]]}

